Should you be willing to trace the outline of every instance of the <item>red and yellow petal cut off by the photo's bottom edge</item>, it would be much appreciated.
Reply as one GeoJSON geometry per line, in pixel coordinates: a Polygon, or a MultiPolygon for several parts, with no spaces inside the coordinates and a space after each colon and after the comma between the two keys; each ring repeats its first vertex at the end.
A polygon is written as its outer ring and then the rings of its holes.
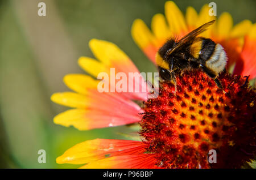
{"type": "Polygon", "coordinates": [[[156,166],[154,154],[114,156],[93,161],[82,166],[86,169],[153,169],[156,166]]]}

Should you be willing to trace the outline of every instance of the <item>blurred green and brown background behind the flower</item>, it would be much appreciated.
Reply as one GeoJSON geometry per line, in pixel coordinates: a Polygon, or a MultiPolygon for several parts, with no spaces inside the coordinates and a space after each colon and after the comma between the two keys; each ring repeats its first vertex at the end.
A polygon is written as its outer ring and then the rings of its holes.
{"type": "MultiPolygon", "coordinates": [[[[53,104],[54,92],[69,91],[68,73],[84,73],[81,55],[92,57],[91,38],[112,41],[124,50],[139,70],[155,71],[130,35],[134,19],[150,26],[164,13],[163,0],[2,0],[0,1],[0,168],[77,168],[58,165],[55,158],[72,145],[94,138],[123,139],[125,127],[78,131],[52,122],[65,108],[53,104]],[[46,16],[38,16],[38,3],[46,16]],[[46,150],[46,164],[38,150],[46,150]]],[[[175,1],[185,12],[212,1],[175,1]]],[[[217,15],[228,11],[234,23],[256,20],[256,1],[217,1],[217,15]]]]}

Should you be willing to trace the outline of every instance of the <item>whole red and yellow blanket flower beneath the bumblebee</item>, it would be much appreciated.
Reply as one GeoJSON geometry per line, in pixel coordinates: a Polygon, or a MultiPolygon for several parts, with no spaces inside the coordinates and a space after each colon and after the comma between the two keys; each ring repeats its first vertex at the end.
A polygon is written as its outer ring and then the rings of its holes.
{"type": "MultiPolygon", "coordinates": [[[[167,23],[163,15],[155,15],[153,33],[142,20],[133,24],[134,40],[152,62],[167,37],[181,37],[213,18],[208,6],[199,15],[188,7],[185,18],[172,1],[165,10],[167,23]]],[[[255,78],[255,27],[249,20],[233,27],[231,16],[224,13],[203,36],[224,46],[228,66],[236,62],[236,74],[255,78]]],[[[110,73],[110,67],[127,76],[139,73],[116,45],[94,39],[89,46],[99,61],[81,57],[79,65],[94,78],[110,73]]],[[[241,168],[250,162],[256,155],[256,96],[247,79],[223,72],[225,93],[200,70],[184,71],[176,79],[176,93],[171,82],[162,82],[159,96],[148,99],[146,93],[100,93],[99,81],[88,75],[65,76],[75,92],[55,93],[52,101],[75,109],[57,115],[55,123],[79,130],[139,123],[142,141],[88,140],[65,151],[57,163],[85,164],[81,168],[241,168]],[[210,149],[217,151],[216,164],[208,162],[210,149]]],[[[143,80],[131,82],[146,86],[143,80]]]]}

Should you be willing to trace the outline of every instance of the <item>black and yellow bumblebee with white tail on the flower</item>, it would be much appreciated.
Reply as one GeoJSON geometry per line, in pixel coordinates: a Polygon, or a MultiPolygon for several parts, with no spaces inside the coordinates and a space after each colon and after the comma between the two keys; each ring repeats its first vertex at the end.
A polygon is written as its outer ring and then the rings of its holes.
{"type": "Polygon", "coordinates": [[[197,37],[214,22],[215,20],[212,20],[201,25],[180,40],[168,39],[156,53],[159,76],[164,81],[174,82],[175,91],[175,74],[193,68],[201,68],[210,78],[214,79],[217,87],[222,89],[218,75],[225,70],[226,53],[220,44],[216,44],[210,38],[197,37]]]}

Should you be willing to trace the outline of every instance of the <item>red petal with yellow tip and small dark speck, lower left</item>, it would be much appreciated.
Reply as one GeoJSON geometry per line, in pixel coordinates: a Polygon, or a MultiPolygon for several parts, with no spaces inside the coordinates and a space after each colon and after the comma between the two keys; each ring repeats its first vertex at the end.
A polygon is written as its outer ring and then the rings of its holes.
{"type": "MultiPolygon", "coordinates": [[[[105,157],[144,152],[144,143],[133,140],[94,139],[76,144],[57,157],[58,164],[85,164],[105,157]]],[[[105,158],[107,159],[107,158],[105,158]]]]}

